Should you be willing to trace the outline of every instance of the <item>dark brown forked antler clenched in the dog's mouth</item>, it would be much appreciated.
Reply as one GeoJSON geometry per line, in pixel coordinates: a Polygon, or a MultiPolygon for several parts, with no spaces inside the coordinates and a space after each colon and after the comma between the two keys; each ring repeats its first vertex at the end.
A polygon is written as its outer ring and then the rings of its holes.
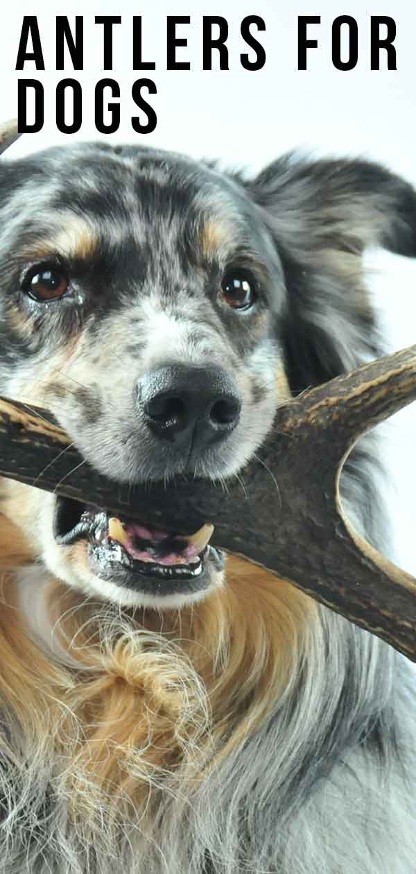
{"type": "Polygon", "coordinates": [[[209,521],[213,545],[262,565],[416,661],[416,579],[353,530],[338,491],[358,437],[413,399],[416,346],[304,392],[281,406],[261,459],[226,492],[184,478],[115,488],[87,462],[78,467],[80,454],[50,413],[0,399],[0,475],[177,533],[209,521]]]}

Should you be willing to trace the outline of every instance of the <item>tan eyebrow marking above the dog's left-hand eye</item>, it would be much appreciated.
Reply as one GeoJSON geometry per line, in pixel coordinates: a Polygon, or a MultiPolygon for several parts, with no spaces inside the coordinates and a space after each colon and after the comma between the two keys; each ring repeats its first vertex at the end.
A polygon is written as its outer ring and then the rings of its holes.
{"type": "Polygon", "coordinates": [[[24,257],[48,258],[52,254],[59,254],[62,258],[88,260],[94,256],[100,241],[93,225],[86,218],[61,212],[57,215],[57,225],[60,226],[56,232],[28,246],[24,250],[24,257]]]}

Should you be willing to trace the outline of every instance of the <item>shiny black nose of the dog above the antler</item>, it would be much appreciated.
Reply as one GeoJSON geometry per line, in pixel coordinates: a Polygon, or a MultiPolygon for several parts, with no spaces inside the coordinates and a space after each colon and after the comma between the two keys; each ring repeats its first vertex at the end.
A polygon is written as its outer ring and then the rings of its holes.
{"type": "Polygon", "coordinates": [[[202,449],[230,434],[239,421],[241,399],[221,367],[173,364],[146,373],[137,398],[146,423],[160,440],[202,449]]]}

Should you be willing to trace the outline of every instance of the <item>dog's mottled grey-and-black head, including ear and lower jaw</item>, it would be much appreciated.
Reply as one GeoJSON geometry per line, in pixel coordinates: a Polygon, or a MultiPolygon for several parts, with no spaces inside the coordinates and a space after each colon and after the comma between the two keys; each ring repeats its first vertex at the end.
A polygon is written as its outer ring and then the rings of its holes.
{"type": "MultiPolygon", "coordinates": [[[[3,163],[1,185],[0,391],[50,409],[114,489],[239,475],[289,392],[371,350],[364,246],[415,252],[413,190],[371,163],[289,156],[248,181],[87,144],[3,163]]],[[[170,607],[221,585],[205,532],[108,531],[105,509],[2,489],[86,593],[170,607]]]]}

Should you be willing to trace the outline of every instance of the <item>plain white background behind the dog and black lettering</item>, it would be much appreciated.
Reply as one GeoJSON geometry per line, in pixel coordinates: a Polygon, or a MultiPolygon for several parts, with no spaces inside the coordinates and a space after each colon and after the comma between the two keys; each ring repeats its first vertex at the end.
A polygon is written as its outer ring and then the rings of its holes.
{"type": "MultiPolygon", "coordinates": [[[[225,166],[249,165],[256,170],[282,151],[302,147],[315,154],[368,156],[416,184],[415,73],[416,12],[410,0],[349,3],[315,0],[313,3],[258,2],[211,3],[208,0],[120,3],[14,3],[3,4],[0,33],[0,69],[3,87],[0,115],[5,120],[17,114],[17,77],[38,78],[45,86],[45,127],[38,135],[26,135],[15,147],[15,156],[75,139],[99,139],[94,127],[94,85],[113,77],[121,86],[121,128],[112,142],[145,142],[175,149],[192,156],[219,157],[225,166]],[[16,73],[17,45],[24,15],[37,14],[45,72],[32,63],[16,73]],[[55,70],[55,16],[84,15],[84,72],[73,73],[69,56],[66,71],[55,70]],[[191,26],[178,28],[188,38],[177,59],[190,60],[191,71],[166,71],[166,16],[190,15],[191,26]],[[247,72],[239,53],[247,47],[239,36],[241,19],[260,15],[267,31],[260,41],[267,52],[260,72],[247,72]],[[354,71],[338,72],[331,65],[330,33],[333,19],[352,15],[359,26],[358,65],[354,71]],[[121,15],[114,27],[114,70],[102,69],[102,27],[94,15],[121,15]],[[142,15],[143,59],[156,61],[156,71],[135,72],[131,52],[131,20],[142,15]],[[230,70],[202,70],[202,17],[222,15],[229,24],[230,70]],[[320,15],[321,24],[309,28],[318,38],[318,49],[309,51],[309,69],[297,71],[297,17],[320,15]],[[397,23],[397,72],[370,69],[370,17],[389,15],[397,23]],[[136,135],[131,115],[135,79],[156,81],[157,94],[149,98],[158,123],[154,134],[136,135]],[[56,82],[79,79],[83,86],[83,125],[78,135],[62,135],[55,125],[56,82]]],[[[382,52],[382,55],[384,53],[382,52]]],[[[214,53],[215,56],[215,53],[214,53]]],[[[216,59],[214,59],[214,64],[216,59]]],[[[105,137],[102,137],[105,138],[105,137]]],[[[11,156],[11,153],[10,153],[11,156]]],[[[416,267],[413,262],[385,253],[369,253],[369,283],[376,295],[389,348],[416,343],[416,267]]],[[[416,406],[416,405],[414,405],[416,406]]],[[[385,449],[392,474],[390,510],[395,531],[392,558],[416,573],[413,534],[416,460],[416,409],[399,413],[388,427],[385,449]]]]}

